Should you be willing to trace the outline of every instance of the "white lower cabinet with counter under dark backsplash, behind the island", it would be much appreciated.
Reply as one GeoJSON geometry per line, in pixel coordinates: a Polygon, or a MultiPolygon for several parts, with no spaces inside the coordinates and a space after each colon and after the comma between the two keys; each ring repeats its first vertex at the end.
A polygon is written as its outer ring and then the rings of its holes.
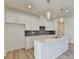
{"type": "Polygon", "coordinates": [[[34,40],[54,37],[54,35],[39,35],[39,36],[26,36],[26,49],[34,48],[34,40]]]}

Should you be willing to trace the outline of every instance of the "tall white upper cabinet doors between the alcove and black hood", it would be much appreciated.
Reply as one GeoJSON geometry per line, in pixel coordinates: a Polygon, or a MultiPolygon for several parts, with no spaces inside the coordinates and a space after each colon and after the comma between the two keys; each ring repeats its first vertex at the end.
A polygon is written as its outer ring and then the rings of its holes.
{"type": "Polygon", "coordinates": [[[33,16],[26,17],[26,30],[39,30],[39,19],[33,16]]]}

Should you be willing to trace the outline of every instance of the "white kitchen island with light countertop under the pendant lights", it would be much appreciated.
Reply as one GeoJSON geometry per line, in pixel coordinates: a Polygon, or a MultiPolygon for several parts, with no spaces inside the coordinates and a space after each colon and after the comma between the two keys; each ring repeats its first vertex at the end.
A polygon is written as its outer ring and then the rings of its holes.
{"type": "Polygon", "coordinates": [[[67,49],[67,37],[50,37],[34,40],[35,59],[55,59],[67,49]]]}

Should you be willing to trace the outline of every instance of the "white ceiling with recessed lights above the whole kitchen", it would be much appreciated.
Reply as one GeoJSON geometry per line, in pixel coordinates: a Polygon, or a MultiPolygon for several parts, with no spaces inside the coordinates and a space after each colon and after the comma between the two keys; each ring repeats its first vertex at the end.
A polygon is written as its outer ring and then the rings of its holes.
{"type": "MultiPolygon", "coordinates": [[[[17,9],[20,11],[46,16],[48,5],[50,12],[56,15],[55,18],[60,16],[69,18],[74,16],[74,0],[5,0],[5,5],[8,8],[17,9]],[[31,4],[32,8],[27,8],[27,5],[31,4]],[[69,10],[68,13],[61,12],[60,9],[69,10]]],[[[54,17],[52,17],[54,18],[54,17]]]]}

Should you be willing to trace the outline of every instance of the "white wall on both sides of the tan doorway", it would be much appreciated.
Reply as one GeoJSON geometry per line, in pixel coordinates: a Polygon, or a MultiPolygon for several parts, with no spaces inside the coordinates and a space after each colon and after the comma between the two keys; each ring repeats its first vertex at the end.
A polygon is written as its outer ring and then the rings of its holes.
{"type": "MultiPolygon", "coordinates": [[[[59,19],[54,19],[53,27],[57,30],[57,21],[59,19]]],[[[64,19],[65,24],[65,36],[68,36],[70,43],[74,43],[74,17],[64,19]]]]}

